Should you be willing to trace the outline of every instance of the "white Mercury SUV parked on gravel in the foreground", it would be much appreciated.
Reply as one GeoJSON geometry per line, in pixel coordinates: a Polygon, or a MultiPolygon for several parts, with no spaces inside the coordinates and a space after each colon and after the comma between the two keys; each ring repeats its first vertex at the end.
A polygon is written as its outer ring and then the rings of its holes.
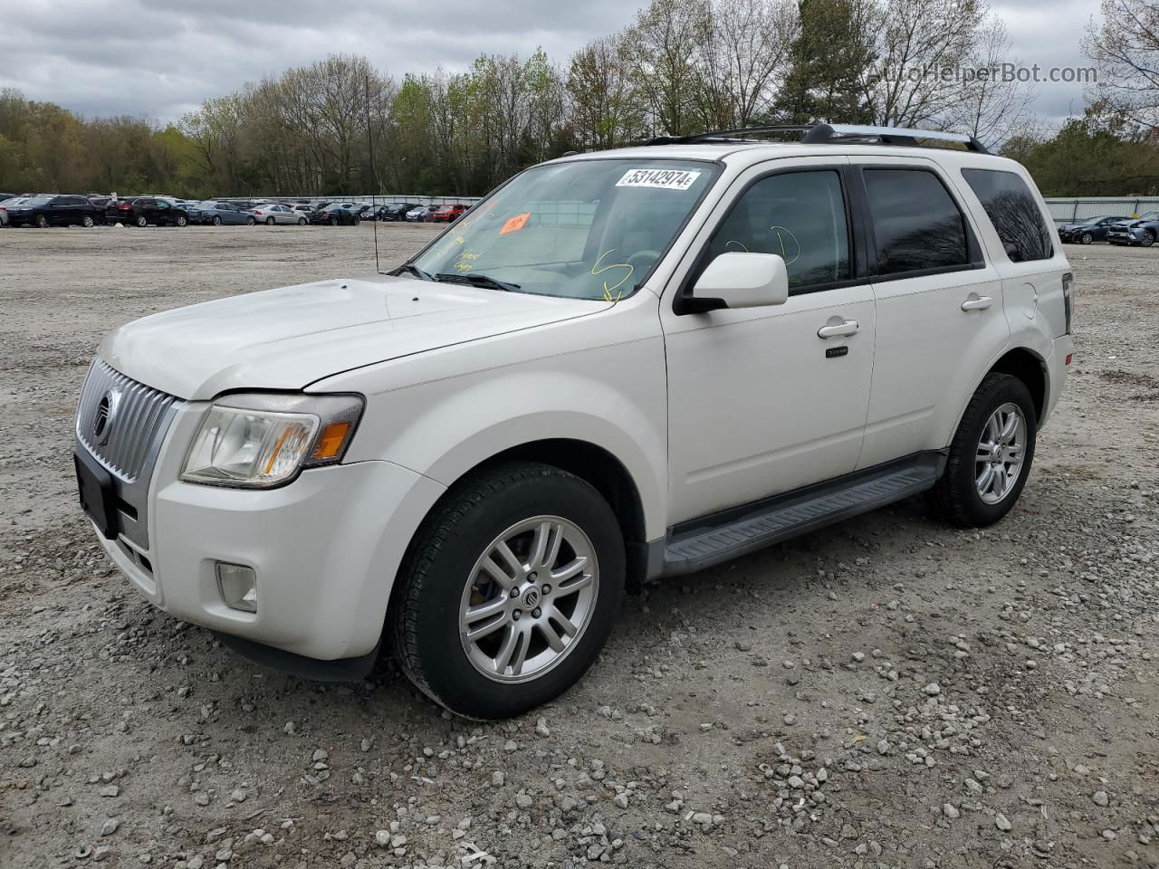
{"type": "Polygon", "coordinates": [[[997,521],[1071,352],[1042,198],[967,137],[662,139],[527,169],[391,275],[119,328],[81,503],[234,648],[358,678],[386,642],[496,718],[575,682],[634,583],[924,490],[997,521]]]}

